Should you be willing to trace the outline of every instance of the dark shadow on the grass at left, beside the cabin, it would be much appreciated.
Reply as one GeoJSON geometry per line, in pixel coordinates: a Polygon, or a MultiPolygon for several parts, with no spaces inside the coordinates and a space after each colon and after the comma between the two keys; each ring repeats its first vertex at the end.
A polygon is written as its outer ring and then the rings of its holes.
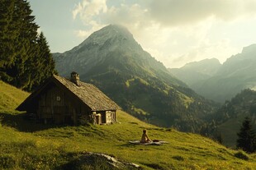
{"type": "Polygon", "coordinates": [[[43,131],[54,127],[67,126],[64,124],[45,125],[42,122],[32,122],[26,113],[0,113],[0,124],[2,124],[2,126],[10,126],[18,131],[24,132],[43,131]]]}

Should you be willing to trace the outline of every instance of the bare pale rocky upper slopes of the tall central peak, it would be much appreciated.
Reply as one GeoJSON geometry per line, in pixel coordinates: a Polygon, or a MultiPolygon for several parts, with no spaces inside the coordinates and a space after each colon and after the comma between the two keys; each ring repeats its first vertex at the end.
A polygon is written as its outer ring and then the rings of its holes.
{"type": "Polygon", "coordinates": [[[108,53],[124,50],[128,52],[135,52],[135,57],[140,58],[140,65],[145,66],[146,64],[148,64],[149,67],[151,67],[151,65],[154,65],[154,67],[157,67],[159,70],[166,71],[165,69],[163,69],[165,68],[163,63],[155,62],[156,60],[154,59],[154,57],[151,57],[149,53],[145,52],[143,48],[141,48],[140,44],[135,41],[133,35],[130,34],[130,32],[121,25],[108,25],[106,27],[103,27],[101,30],[97,30],[96,32],[92,33],[88,37],[88,39],[85,39],[83,43],[72,48],[71,50],[62,54],[55,53],[56,67],[57,70],[59,70],[61,76],[69,76],[69,73],[71,71],[77,70],[79,67],[82,67],[83,71],[78,72],[84,73],[92,67],[95,67],[98,62],[104,62],[107,57],[110,57],[110,55],[107,55],[108,53]],[[68,57],[71,58],[69,56],[70,53],[76,53],[77,55],[73,56],[71,54],[71,57],[73,57],[73,59],[68,60],[68,57]],[[143,55],[141,55],[142,53],[143,55]],[[73,63],[74,66],[72,67],[72,64],[69,64],[69,66],[71,66],[70,69],[64,68],[64,70],[61,70],[61,66],[58,65],[59,55],[65,57],[61,58],[61,60],[68,60],[68,62],[73,63]],[[93,57],[90,57],[90,55],[92,55],[93,57]],[[83,62],[83,65],[86,65],[87,67],[79,65],[81,62],[83,62]],[[146,62],[146,64],[144,62],[146,62]],[[88,66],[87,63],[90,63],[91,67],[88,66]]]}

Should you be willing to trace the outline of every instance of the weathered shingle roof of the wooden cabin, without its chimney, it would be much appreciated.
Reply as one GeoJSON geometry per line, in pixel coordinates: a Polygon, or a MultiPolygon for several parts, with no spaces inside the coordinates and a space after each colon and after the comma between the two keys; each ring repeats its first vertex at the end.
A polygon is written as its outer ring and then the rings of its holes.
{"type": "Polygon", "coordinates": [[[107,110],[118,110],[121,109],[114,101],[107,97],[101,90],[97,89],[95,85],[84,83],[80,81],[80,85],[74,84],[67,78],[61,76],[52,76],[49,80],[46,80],[45,85],[41,85],[38,90],[32,93],[17,110],[26,110],[26,105],[35,99],[36,96],[40,95],[40,92],[50,84],[54,82],[57,86],[63,86],[64,90],[69,90],[71,94],[75,95],[77,99],[81,100],[82,103],[88,105],[92,111],[107,111],[107,110]]]}

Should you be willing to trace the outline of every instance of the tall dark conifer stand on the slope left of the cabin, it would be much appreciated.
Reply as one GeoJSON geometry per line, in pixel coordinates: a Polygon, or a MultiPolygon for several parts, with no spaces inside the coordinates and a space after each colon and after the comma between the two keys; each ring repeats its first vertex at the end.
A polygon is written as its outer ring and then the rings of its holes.
{"type": "Polygon", "coordinates": [[[0,0],[0,79],[34,90],[55,71],[45,35],[26,0],[0,0]]]}

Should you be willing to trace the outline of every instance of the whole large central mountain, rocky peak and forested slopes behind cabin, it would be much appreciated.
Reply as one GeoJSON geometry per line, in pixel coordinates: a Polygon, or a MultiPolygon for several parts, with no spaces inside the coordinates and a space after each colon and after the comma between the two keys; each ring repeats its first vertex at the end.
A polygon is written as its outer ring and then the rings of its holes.
{"type": "Polygon", "coordinates": [[[61,76],[77,71],[126,112],[159,126],[199,131],[212,102],[172,76],[120,25],[108,25],[65,53],[53,54],[61,76]]]}

